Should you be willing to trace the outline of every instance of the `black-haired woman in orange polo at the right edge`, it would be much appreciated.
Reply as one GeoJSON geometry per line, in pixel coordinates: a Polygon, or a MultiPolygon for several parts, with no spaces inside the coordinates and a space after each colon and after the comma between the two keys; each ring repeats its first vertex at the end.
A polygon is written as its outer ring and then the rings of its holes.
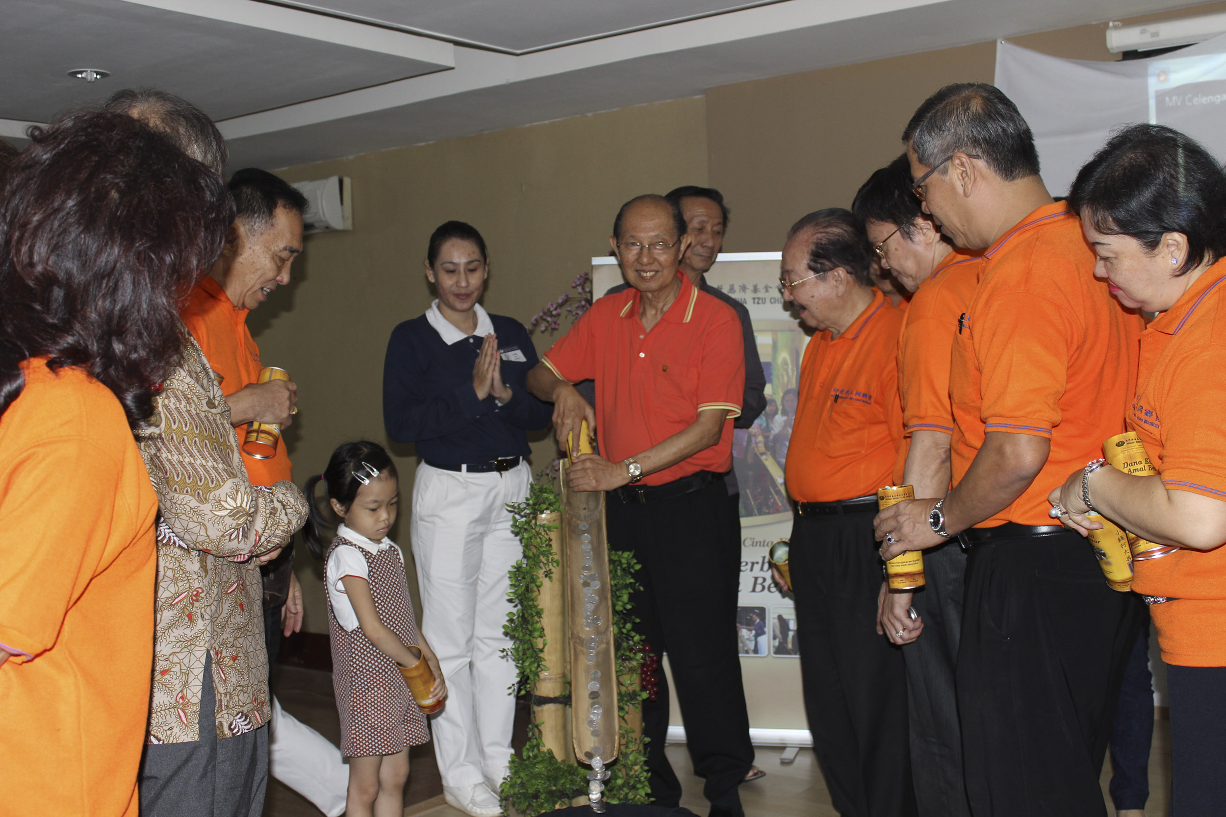
{"type": "Polygon", "coordinates": [[[1051,494],[1085,534],[1094,510],[1155,543],[1134,562],[1170,665],[1171,815],[1226,810],[1226,174],[1160,125],[1114,136],[1078,174],[1069,206],[1097,254],[1095,276],[1124,305],[1159,312],[1141,334],[1128,429],[1157,475],[1095,459],[1051,494]]]}

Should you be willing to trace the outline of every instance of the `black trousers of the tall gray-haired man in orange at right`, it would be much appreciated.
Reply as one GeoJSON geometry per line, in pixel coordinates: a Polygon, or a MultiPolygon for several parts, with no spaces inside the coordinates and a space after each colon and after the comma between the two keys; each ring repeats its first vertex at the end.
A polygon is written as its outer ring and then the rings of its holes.
{"type": "Polygon", "coordinates": [[[975,817],[1105,817],[1098,777],[1139,599],[1073,532],[973,545],[958,653],[975,817]]]}

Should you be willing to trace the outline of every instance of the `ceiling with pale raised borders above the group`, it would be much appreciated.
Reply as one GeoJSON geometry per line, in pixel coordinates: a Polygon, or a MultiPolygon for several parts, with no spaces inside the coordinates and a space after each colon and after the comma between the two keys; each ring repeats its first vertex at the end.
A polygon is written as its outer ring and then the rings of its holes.
{"type": "Polygon", "coordinates": [[[1189,4],[745,5],[0,0],[0,136],[20,136],[29,121],[47,121],[123,87],[154,86],[219,120],[230,141],[232,167],[276,168],[1189,4]],[[660,24],[678,18],[684,21],[660,24]],[[558,45],[566,42],[571,44],[558,45]],[[70,69],[81,67],[104,69],[112,76],[93,85],[66,77],[70,69]]]}

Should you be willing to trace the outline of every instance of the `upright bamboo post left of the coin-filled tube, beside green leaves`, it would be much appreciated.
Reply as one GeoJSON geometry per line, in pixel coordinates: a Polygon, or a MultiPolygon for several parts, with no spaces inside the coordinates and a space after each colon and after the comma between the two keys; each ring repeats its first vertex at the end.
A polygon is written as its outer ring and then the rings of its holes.
{"type": "MultiPolygon", "coordinates": [[[[549,578],[541,577],[541,625],[544,630],[544,671],[532,687],[532,720],[541,724],[541,741],[563,763],[574,763],[570,751],[566,704],[560,698],[566,693],[566,562],[562,548],[562,514],[542,513],[542,524],[555,525],[549,535],[553,556],[559,567],[549,578]],[[541,699],[548,702],[538,703],[541,699]]],[[[539,646],[539,644],[538,644],[539,646]]]]}

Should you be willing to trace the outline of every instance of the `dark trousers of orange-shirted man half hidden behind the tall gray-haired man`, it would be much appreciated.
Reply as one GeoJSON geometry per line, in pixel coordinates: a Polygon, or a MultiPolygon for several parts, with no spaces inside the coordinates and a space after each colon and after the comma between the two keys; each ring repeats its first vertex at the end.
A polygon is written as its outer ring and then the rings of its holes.
{"type": "Polygon", "coordinates": [[[923,620],[920,638],[902,648],[907,668],[911,773],[920,817],[970,817],[962,778],[962,732],[954,671],[962,634],[966,551],[946,541],[923,551],[924,588],[911,606],[923,620]]]}

